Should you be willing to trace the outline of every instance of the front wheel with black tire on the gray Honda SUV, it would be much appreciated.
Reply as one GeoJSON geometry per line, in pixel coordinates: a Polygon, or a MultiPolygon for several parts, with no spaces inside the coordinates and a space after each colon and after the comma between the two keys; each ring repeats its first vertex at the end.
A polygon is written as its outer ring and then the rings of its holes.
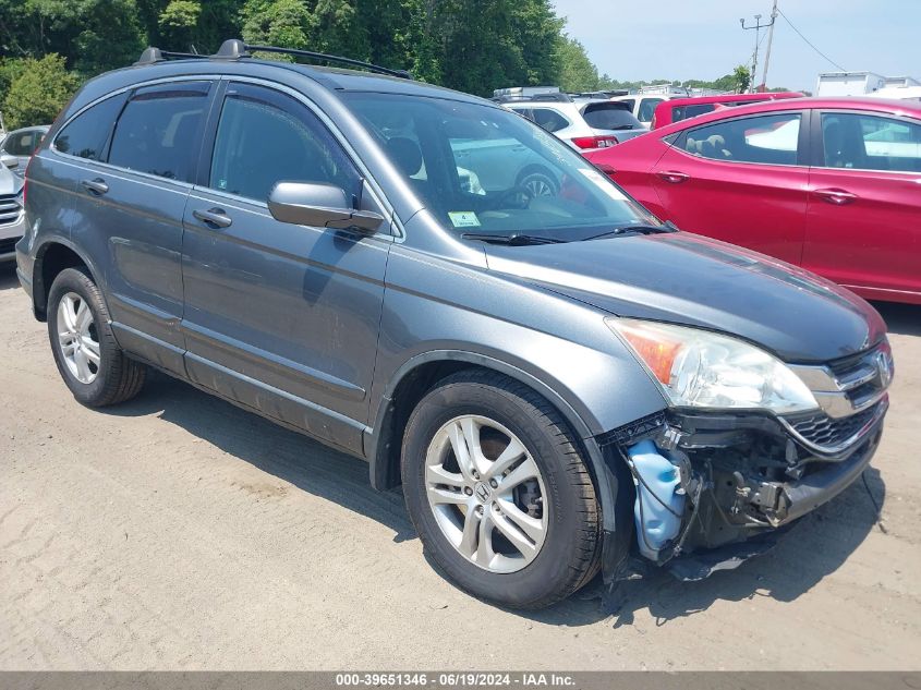
{"type": "Polygon", "coordinates": [[[549,606],[598,568],[601,511],[556,409],[499,374],[460,372],[407,425],[402,481],[425,549],[483,600],[549,606]]]}

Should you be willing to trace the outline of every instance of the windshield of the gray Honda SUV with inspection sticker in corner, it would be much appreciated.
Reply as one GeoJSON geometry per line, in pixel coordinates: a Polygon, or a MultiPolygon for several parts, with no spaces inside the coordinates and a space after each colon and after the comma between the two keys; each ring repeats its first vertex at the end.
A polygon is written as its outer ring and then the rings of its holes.
{"type": "Polygon", "coordinates": [[[426,208],[458,234],[575,240],[657,225],[579,154],[504,108],[362,92],[343,99],[426,208]]]}

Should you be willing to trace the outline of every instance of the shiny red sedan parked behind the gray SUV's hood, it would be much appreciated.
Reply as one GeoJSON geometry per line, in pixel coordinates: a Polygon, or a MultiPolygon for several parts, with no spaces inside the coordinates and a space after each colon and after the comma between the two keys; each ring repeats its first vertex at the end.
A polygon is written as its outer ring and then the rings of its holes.
{"type": "Polygon", "coordinates": [[[921,304],[921,104],[796,98],[587,155],[663,220],[921,304]]]}

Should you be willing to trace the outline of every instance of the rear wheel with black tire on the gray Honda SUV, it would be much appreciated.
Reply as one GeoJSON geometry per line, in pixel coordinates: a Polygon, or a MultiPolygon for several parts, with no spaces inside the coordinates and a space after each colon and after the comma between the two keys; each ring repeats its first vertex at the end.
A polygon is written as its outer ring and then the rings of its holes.
{"type": "Polygon", "coordinates": [[[124,402],[144,387],[147,367],[119,348],[102,294],[85,268],[65,268],[51,283],[48,337],[61,378],[82,404],[124,402]]]}

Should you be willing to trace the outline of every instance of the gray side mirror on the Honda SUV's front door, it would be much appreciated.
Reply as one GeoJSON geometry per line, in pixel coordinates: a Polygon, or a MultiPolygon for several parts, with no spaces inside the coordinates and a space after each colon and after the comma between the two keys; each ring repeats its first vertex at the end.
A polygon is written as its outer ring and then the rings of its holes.
{"type": "Polygon", "coordinates": [[[268,195],[272,218],[295,226],[375,232],[384,216],[351,208],[346,190],[335,184],[278,182],[268,195]]]}

